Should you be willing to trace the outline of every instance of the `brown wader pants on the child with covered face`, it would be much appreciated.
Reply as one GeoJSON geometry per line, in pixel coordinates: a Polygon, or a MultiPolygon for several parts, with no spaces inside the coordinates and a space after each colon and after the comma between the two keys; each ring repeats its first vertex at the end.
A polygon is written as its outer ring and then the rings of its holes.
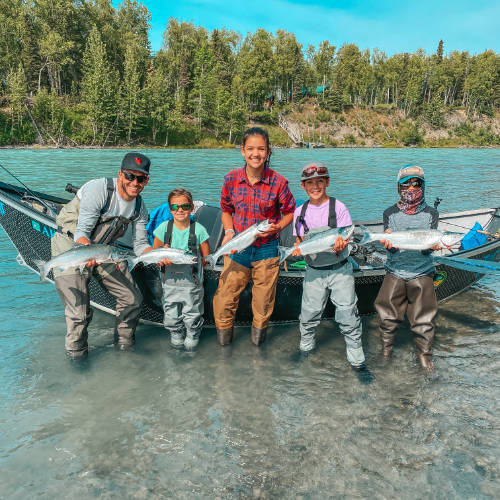
{"type": "Polygon", "coordinates": [[[392,348],[398,325],[406,316],[415,335],[417,349],[432,352],[434,325],[438,304],[431,276],[419,276],[405,281],[387,273],[377,299],[375,309],[380,317],[380,338],[383,346],[392,348]]]}

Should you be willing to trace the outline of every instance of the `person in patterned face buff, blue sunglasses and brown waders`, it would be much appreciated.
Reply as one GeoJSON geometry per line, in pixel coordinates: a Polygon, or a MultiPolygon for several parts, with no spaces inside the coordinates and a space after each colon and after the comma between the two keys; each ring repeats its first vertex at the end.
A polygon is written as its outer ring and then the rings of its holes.
{"type": "MultiPolygon", "coordinates": [[[[421,167],[407,165],[397,177],[399,201],[384,212],[384,229],[405,231],[408,229],[437,229],[439,214],[425,202],[425,177],[421,167]]],[[[387,274],[380,288],[375,308],[380,318],[382,356],[392,356],[394,337],[398,325],[406,314],[415,336],[417,357],[424,371],[434,369],[432,340],[437,313],[434,291],[434,263],[430,250],[399,250],[389,241],[382,240],[387,249],[385,268],[387,274]]]]}

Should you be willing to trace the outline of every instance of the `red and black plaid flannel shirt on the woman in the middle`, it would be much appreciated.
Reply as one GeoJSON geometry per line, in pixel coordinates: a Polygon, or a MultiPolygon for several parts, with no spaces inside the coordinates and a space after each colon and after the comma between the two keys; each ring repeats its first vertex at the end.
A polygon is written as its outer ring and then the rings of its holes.
{"type": "MultiPolygon", "coordinates": [[[[220,206],[223,212],[231,214],[234,229],[240,233],[265,219],[273,224],[279,222],[283,215],[293,213],[295,199],[282,175],[266,167],[261,179],[252,186],[243,166],[224,176],[220,206]]],[[[258,238],[255,245],[277,238],[278,234],[258,238]]]]}

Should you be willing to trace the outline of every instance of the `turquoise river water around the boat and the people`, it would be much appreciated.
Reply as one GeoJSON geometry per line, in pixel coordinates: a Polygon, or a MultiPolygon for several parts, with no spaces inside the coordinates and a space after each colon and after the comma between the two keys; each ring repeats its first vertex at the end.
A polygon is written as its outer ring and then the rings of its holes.
{"type": "MultiPolygon", "coordinates": [[[[174,187],[217,203],[237,150],[151,150],[149,208],[174,187]]],[[[120,150],[5,150],[0,162],[32,189],[64,195],[112,176],[120,150]]],[[[500,206],[499,150],[276,150],[297,196],[300,166],[331,170],[331,193],[356,219],[395,201],[400,166],[425,169],[427,200],[454,212],[500,206]]],[[[6,176],[2,180],[10,182],[6,176]]],[[[375,376],[360,384],[334,323],[319,349],[294,354],[296,325],[249,331],[229,348],[207,329],[195,353],[140,326],[135,352],[112,346],[96,312],[88,364],[64,356],[65,322],[49,285],[15,262],[0,232],[0,498],[499,498],[500,285],[484,278],[440,306],[436,373],[418,369],[403,326],[394,359],[379,358],[377,320],[363,318],[375,376]]],[[[298,311],[297,311],[298,313],[298,311]]]]}

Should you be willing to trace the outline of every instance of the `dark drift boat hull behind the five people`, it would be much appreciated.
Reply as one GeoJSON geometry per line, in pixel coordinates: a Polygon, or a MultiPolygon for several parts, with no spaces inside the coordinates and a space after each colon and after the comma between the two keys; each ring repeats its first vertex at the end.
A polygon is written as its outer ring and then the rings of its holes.
{"type": "MultiPolygon", "coordinates": [[[[40,197],[43,196],[42,200],[47,201],[47,204],[56,208],[67,201],[43,195],[42,193],[36,194],[40,197]]],[[[4,228],[19,253],[18,262],[25,264],[36,273],[38,273],[38,269],[35,265],[35,260],[46,261],[50,259],[50,239],[57,232],[57,225],[53,214],[43,213],[43,210],[43,205],[33,200],[32,197],[29,197],[27,201],[23,201],[22,192],[19,188],[7,184],[0,185],[0,225],[4,228]],[[18,190],[17,193],[16,189],[18,190]]],[[[488,229],[491,232],[496,232],[500,228],[500,210],[488,210],[485,212],[489,214],[488,229]]],[[[463,217],[464,214],[472,214],[472,217],[474,217],[476,212],[480,213],[480,211],[472,211],[453,215],[463,217]]],[[[448,217],[453,219],[452,215],[448,217]]],[[[442,219],[445,220],[446,216],[442,219]]],[[[376,226],[377,224],[379,223],[371,223],[372,226],[376,226]]],[[[454,253],[454,255],[499,261],[500,241],[493,240],[475,249],[454,253]]],[[[221,267],[205,271],[205,323],[207,325],[213,325],[214,323],[212,300],[217,289],[220,272],[221,267]]],[[[161,284],[157,268],[155,266],[138,266],[133,270],[133,275],[144,295],[140,316],[141,321],[161,325],[163,322],[163,310],[160,303],[161,294],[159,291],[161,284]]],[[[384,279],[385,272],[382,268],[368,268],[355,270],[354,275],[360,314],[371,314],[375,311],[374,301],[384,279]]],[[[282,270],[280,272],[271,322],[284,323],[297,321],[300,313],[303,276],[303,271],[299,270],[282,270]]],[[[435,287],[438,300],[445,300],[467,289],[481,278],[481,276],[478,273],[462,271],[445,265],[437,266],[435,287]]],[[[52,278],[51,274],[49,278],[52,278]]],[[[115,298],[95,279],[91,279],[90,281],[90,297],[93,306],[114,314],[116,306],[115,298]]],[[[334,308],[329,302],[325,309],[324,317],[331,318],[333,316],[334,308]]],[[[245,325],[250,324],[251,320],[251,283],[249,283],[240,297],[236,323],[245,325]]]]}

